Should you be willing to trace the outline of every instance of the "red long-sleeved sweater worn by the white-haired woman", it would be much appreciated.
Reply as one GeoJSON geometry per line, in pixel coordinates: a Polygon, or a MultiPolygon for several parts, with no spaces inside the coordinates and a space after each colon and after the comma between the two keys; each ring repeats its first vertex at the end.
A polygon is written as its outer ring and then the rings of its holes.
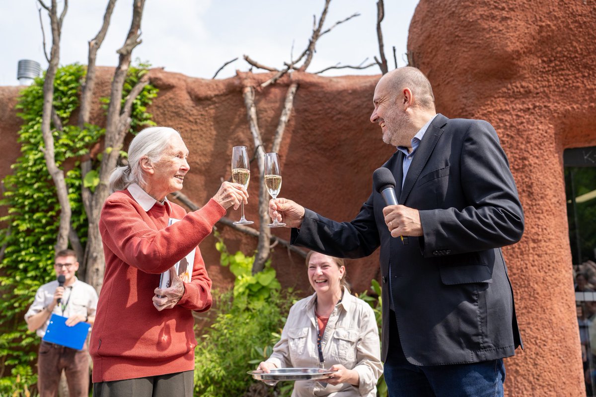
{"type": "Polygon", "coordinates": [[[178,304],[160,312],[151,299],[160,274],[197,247],[225,212],[213,199],[187,214],[172,202],[145,212],[128,190],[108,197],[99,226],[104,283],[89,345],[94,383],[194,369],[192,311],[212,304],[211,280],[198,248],[193,277],[184,283],[178,304]],[[166,227],[170,217],[181,221],[166,227]]]}

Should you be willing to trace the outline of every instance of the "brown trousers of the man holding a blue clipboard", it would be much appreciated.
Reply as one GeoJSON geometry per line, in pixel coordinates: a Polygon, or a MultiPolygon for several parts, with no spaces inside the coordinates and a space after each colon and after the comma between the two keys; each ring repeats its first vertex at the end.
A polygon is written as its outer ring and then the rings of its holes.
{"type": "Polygon", "coordinates": [[[40,397],[56,397],[64,370],[70,397],[89,396],[89,354],[42,340],[38,354],[40,397]]]}

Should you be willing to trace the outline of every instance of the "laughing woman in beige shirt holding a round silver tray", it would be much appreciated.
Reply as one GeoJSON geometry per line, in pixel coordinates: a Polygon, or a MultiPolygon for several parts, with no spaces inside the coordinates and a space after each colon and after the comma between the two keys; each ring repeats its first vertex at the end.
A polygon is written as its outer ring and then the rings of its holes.
{"type": "Polygon", "coordinates": [[[362,299],[350,295],[340,258],[311,251],[306,256],[313,295],[294,304],[273,354],[259,364],[272,368],[329,368],[328,380],[294,383],[293,397],[377,394],[383,373],[375,315],[362,299]]]}

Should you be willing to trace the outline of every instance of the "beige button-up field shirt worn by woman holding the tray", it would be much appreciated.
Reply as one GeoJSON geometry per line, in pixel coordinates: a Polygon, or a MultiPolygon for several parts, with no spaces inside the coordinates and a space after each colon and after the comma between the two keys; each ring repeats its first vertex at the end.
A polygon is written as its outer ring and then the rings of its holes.
{"type": "Polygon", "coordinates": [[[321,364],[316,347],[315,298],[316,294],[313,294],[291,307],[281,339],[267,361],[278,368],[329,368],[342,364],[358,371],[358,387],[348,383],[333,386],[322,381],[303,380],[294,383],[293,397],[376,396],[383,364],[373,310],[344,289],[343,299],[336,305],[325,327],[321,343],[324,362],[321,364]]]}

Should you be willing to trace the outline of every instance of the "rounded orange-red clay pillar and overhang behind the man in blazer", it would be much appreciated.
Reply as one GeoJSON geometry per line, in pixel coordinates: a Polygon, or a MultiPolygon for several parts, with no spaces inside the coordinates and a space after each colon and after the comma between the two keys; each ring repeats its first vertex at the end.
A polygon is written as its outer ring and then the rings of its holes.
{"type": "Polygon", "coordinates": [[[505,255],[525,349],[505,361],[508,396],[585,395],[563,150],[596,145],[595,32],[592,0],[421,0],[410,25],[437,111],[493,124],[522,199],[505,255]]]}

